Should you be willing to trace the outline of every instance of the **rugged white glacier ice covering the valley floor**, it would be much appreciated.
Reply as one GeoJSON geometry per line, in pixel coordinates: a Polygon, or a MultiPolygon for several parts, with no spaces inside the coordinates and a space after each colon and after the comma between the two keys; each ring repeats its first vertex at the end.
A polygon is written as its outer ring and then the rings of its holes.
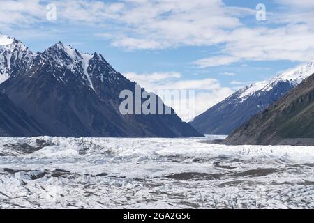
{"type": "Polygon", "coordinates": [[[314,147],[219,138],[1,138],[0,208],[314,208],[314,147]]]}

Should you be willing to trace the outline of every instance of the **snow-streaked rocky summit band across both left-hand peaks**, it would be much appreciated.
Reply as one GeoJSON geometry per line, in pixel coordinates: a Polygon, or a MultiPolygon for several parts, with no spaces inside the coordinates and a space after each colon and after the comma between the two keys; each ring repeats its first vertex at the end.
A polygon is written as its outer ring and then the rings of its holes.
{"type": "Polygon", "coordinates": [[[30,70],[37,63],[40,65],[29,77],[33,77],[33,73],[36,73],[39,68],[50,64],[50,71],[58,81],[64,82],[64,78],[62,75],[56,75],[57,73],[62,72],[64,75],[66,70],[70,70],[78,78],[82,77],[82,84],[87,84],[93,91],[96,91],[93,84],[95,78],[100,79],[101,82],[105,78],[108,82],[119,79],[117,77],[119,74],[103,59],[101,54],[78,52],[77,49],[61,42],[49,47],[43,53],[33,54],[19,40],[0,33],[0,84],[9,79],[13,72],[19,74],[20,68],[30,70]],[[94,66],[91,66],[92,59],[94,66]],[[102,70],[99,64],[96,65],[97,63],[102,64],[102,70]],[[104,73],[107,74],[106,77],[104,73]]]}

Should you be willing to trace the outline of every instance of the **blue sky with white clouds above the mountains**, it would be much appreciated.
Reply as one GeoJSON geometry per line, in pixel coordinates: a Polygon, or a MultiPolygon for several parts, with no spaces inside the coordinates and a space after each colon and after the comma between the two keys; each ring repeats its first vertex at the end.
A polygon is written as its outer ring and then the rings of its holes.
{"type": "Polygon", "coordinates": [[[194,115],[247,84],[314,59],[313,0],[0,3],[0,32],[33,52],[61,40],[101,53],[148,91],[195,91],[194,115]]]}

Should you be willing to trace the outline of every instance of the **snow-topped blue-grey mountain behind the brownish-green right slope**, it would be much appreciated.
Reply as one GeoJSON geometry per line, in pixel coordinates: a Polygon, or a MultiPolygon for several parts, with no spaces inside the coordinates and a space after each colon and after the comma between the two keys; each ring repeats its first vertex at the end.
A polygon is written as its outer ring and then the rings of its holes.
{"type": "Polygon", "coordinates": [[[311,61],[268,81],[250,84],[200,114],[190,124],[202,134],[230,134],[313,73],[314,61],[311,61]]]}

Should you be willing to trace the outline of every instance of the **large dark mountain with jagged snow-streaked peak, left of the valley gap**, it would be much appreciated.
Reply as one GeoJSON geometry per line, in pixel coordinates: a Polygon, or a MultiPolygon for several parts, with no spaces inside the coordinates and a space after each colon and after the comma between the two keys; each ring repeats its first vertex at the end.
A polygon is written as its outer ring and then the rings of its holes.
{"type": "Polygon", "coordinates": [[[33,55],[27,68],[16,73],[9,73],[0,89],[43,127],[28,136],[202,136],[176,114],[122,115],[119,93],[128,89],[135,94],[136,84],[100,54],[82,54],[57,43],[33,55]]]}

